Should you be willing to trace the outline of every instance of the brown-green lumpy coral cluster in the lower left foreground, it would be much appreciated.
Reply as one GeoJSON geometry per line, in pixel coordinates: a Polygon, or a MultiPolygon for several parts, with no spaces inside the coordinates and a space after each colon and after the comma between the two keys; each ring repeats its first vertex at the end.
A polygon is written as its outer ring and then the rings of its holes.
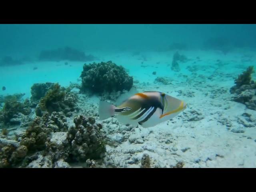
{"type": "Polygon", "coordinates": [[[94,167],[106,152],[102,125],[81,115],[74,118],[75,126],[68,127],[65,119],[62,112],[46,112],[31,122],[20,142],[0,138],[0,168],[66,168],[70,162],[94,167]]]}

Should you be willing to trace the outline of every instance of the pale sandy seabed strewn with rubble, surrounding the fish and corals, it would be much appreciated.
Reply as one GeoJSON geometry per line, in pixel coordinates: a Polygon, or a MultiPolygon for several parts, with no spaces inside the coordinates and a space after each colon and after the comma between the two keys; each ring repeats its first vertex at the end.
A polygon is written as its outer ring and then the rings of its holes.
{"type": "MultiPolygon", "coordinates": [[[[102,121],[107,137],[113,140],[113,145],[106,146],[103,167],[139,168],[144,153],[149,154],[151,167],[169,168],[178,162],[184,162],[184,168],[256,167],[256,111],[231,101],[229,92],[238,74],[254,65],[254,55],[180,53],[189,59],[180,63],[180,72],[170,67],[174,52],[92,53],[100,56],[95,62],[111,60],[124,66],[134,77],[138,91],[161,91],[188,104],[174,119],[151,128],[131,128],[116,118],[102,121]],[[156,82],[157,77],[166,78],[170,84],[156,82]]],[[[1,86],[6,86],[1,94],[25,93],[26,98],[31,96],[30,87],[34,83],[58,82],[61,86],[80,83],[84,63],[65,62],[0,67],[1,86]],[[33,70],[34,67],[37,69],[33,70]]],[[[79,98],[79,106],[84,109],[80,113],[98,112],[97,96],[79,94],[79,98]]]]}

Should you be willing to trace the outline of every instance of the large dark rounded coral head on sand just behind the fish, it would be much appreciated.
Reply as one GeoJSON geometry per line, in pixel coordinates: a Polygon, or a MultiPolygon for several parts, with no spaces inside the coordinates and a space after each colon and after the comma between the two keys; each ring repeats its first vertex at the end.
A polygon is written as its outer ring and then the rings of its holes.
{"type": "Polygon", "coordinates": [[[113,92],[130,90],[133,85],[133,78],[129,76],[124,67],[118,66],[111,61],[93,63],[86,65],[82,74],[81,91],[90,90],[94,93],[113,92]]]}

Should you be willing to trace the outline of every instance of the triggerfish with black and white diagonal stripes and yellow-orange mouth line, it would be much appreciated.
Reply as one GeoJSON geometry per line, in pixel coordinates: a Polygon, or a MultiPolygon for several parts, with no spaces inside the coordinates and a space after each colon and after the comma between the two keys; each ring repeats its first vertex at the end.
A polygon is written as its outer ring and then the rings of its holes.
{"type": "Polygon", "coordinates": [[[136,127],[152,127],[177,116],[186,108],[186,103],[163,92],[146,91],[136,93],[114,106],[108,102],[100,101],[100,120],[117,115],[122,124],[131,124],[136,127]]]}

